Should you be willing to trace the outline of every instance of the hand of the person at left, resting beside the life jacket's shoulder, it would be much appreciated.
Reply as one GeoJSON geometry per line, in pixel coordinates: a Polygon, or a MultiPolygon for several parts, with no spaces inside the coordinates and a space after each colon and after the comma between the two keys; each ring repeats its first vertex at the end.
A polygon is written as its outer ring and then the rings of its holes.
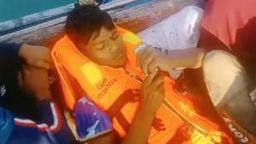
{"type": "Polygon", "coordinates": [[[51,68],[51,51],[47,47],[23,44],[20,47],[19,56],[26,63],[35,67],[51,68]]]}

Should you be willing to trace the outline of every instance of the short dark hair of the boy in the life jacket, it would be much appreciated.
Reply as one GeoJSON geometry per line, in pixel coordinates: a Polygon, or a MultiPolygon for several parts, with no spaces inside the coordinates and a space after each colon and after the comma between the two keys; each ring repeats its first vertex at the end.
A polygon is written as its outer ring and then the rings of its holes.
{"type": "Polygon", "coordinates": [[[115,29],[115,24],[107,12],[92,4],[76,6],[69,12],[65,31],[75,45],[80,40],[87,44],[93,33],[99,35],[102,27],[111,30],[115,29]]]}

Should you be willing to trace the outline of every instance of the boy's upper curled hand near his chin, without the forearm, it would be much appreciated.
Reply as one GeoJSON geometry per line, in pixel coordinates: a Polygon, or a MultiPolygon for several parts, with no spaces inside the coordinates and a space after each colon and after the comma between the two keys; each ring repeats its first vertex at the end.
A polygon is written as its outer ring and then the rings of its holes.
{"type": "Polygon", "coordinates": [[[138,52],[137,64],[144,74],[157,72],[158,70],[166,72],[172,69],[172,61],[170,58],[150,45],[143,51],[138,52]]]}

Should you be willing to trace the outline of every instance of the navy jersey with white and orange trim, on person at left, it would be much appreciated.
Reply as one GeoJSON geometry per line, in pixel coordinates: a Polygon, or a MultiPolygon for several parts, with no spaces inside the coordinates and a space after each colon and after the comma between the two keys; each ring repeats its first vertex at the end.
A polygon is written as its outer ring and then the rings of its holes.
{"type": "MultiPolygon", "coordinates": [[[[56,104],[45,99],[38,104],[40,120],[33,121],[24,118],[14,118],[15,128],[10,141],[22,138],[24,143],[36,143],[35,141],[47,141],[47,143],[69,143],[69,134],[65,118],[59,112],[56,104]]],[[[45,142],[44,142],[45,143],[45,142]]]]}

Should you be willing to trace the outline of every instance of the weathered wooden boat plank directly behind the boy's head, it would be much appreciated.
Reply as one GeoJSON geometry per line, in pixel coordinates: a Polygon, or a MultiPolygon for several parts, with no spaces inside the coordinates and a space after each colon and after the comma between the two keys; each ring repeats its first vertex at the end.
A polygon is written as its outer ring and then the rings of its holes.
{"type": "MultiPolygon", "coordinates": [[[[198,5],[202,3],[202,1],[203,0],[162,0],[129,8],[109,10],[108,13],[118,26],[138,32],[160,22],[185,6],[191,4],[198,5]]],[[[45,43],[51,41],[52,37],[56,35],[61,36],[60,33],[63,31],[65,19],[66,17],[63,16],[0,36],[0,42],[26,42],[29,44],[45,45],[45,43]]]]}

